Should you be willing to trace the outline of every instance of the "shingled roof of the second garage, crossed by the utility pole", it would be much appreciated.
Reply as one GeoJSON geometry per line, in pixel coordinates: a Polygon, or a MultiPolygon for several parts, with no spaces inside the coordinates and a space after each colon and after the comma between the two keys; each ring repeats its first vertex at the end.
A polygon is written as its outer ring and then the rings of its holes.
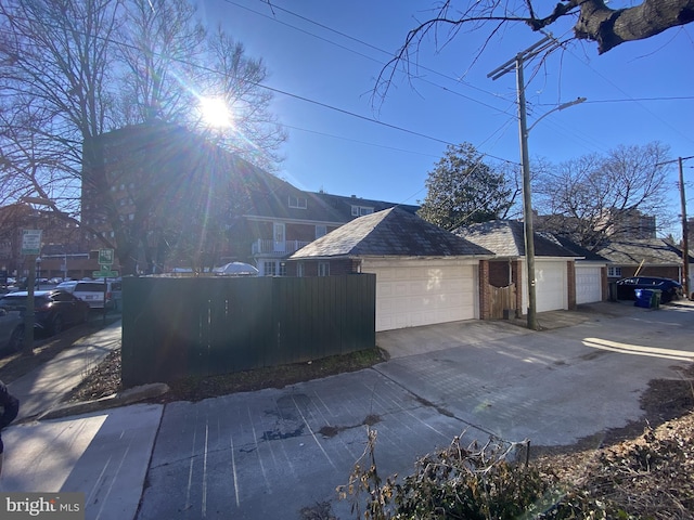
{"type": "MultiPolygon", "coordinates": [[[[525,231],[523,222],[515,220],[492,220],[480,224],[458,227],[454,234],[478,246],[489,249],[498,257],[525,257],[525,231]]],[[[580,257],[556,242],[538,233],[534,237],[536,257],[580,257]]]]}

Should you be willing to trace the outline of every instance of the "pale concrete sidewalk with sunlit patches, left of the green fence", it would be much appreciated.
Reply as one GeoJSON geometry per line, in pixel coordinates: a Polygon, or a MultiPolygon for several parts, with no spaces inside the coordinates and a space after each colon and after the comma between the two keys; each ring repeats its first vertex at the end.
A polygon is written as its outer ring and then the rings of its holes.
{"type": "Polygon", "coordinates": [[[82,492],[86,518],[134,518],[142,495],[162,405],[132,405],[37,420],[113,350],[120,321],[82,338],[9,385],[20,399],[17,421],[3,430],[2,492],[82,492]]]}

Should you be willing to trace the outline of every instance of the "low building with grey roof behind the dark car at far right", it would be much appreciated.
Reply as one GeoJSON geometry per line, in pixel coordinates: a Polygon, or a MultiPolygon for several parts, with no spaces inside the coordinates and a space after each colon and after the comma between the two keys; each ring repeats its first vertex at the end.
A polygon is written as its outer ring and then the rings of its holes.
{"type": "MultiPolygon", "coordinates": [[[[611,282],[637,274],[682,282],[682,250],[665,238],[613,240],[596,252],[611,261],[607,273],[611,282]]],[[[694,264],[691,255],[689,263],[691,277],[694,264]]]]}

